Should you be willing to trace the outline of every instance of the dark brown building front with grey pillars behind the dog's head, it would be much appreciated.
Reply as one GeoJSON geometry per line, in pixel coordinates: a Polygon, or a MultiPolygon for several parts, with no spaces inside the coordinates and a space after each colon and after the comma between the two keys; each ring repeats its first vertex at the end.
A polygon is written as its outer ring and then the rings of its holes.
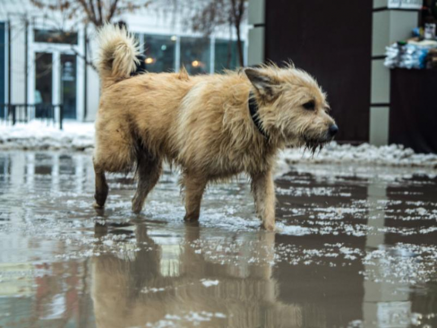
{"type": "Polygon", "coordinates": [[[385,51],[411,37],[421,7],[422,0],[249,0],[248,64],[293,61],[314,75],[340,127],[336,140],[399,143],[385,51]]]}

